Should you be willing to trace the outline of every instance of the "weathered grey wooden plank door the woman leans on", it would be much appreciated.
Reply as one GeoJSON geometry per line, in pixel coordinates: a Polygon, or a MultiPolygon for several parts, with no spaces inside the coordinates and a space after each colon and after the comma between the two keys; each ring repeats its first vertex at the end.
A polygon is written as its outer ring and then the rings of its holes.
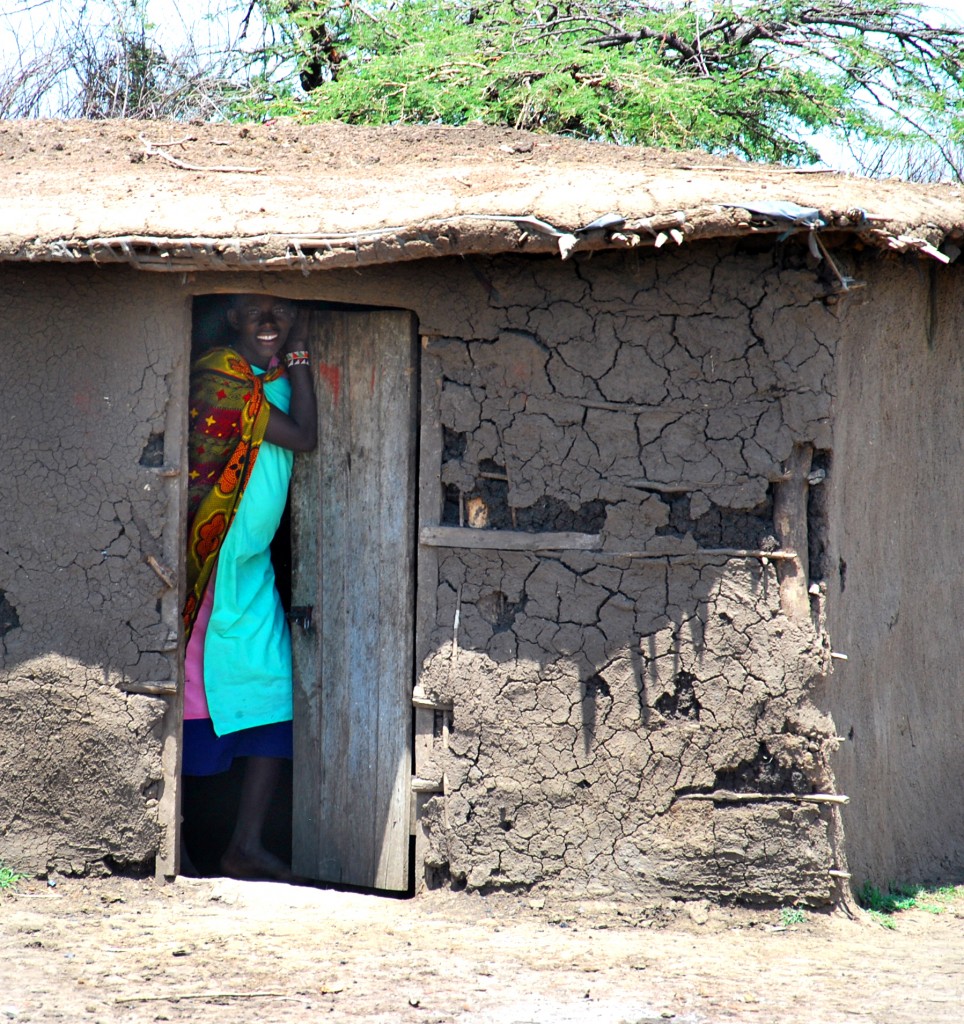
{"type": "Polygon", "coordinates": [[[296,457],[296,873],[409,885],[417,336],[397,311],[312,314],[319,444],[296,457]]]}

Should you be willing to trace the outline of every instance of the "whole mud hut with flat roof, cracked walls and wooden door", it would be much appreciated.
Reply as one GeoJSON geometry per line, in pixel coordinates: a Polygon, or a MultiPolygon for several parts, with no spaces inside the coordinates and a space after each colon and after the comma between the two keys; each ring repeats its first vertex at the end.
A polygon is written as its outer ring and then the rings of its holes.
{"type": "Polygon", "coordinates": [[[0,155],[4,862],[177,871],[192,337],[265,291],[312,310],[324,438],[297,870],[964,877],[960,189],[476,127],[0,155]]]}

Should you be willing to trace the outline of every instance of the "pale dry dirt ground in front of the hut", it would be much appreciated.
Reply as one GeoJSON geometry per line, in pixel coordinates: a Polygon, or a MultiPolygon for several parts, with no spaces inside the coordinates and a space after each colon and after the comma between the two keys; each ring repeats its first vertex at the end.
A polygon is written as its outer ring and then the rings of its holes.
{"type": "Polygon", "coordinates": [[[959,1024],[962,919],[30,882],[0,897],[0,1021],[959,1024]]]}

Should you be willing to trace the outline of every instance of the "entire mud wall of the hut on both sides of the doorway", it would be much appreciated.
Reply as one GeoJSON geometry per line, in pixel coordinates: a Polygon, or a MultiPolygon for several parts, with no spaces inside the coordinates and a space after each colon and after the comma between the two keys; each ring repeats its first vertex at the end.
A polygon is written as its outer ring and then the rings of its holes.
{"type": "Polygon", "coordinates": [[[729,244],[4,269],[0,859],[172,862],[190,295],[270,289],[424,335],[429,885],[819,904],[846,865],[805,798],[835,787],[857,878],[960,871],[960,278],[854,269],[837,305],[802,256],[729,244]]]}

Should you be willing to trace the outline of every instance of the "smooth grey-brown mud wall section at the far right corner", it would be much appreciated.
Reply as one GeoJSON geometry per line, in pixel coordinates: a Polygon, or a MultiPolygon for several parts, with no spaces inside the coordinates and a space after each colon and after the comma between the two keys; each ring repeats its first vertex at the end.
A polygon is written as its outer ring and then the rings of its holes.
{"type": "Polygon", "coordinates": [[[838,351],[822,702],[857,886],[964,879],[962,310],[964,268],[894,264],[838,351]]]}

